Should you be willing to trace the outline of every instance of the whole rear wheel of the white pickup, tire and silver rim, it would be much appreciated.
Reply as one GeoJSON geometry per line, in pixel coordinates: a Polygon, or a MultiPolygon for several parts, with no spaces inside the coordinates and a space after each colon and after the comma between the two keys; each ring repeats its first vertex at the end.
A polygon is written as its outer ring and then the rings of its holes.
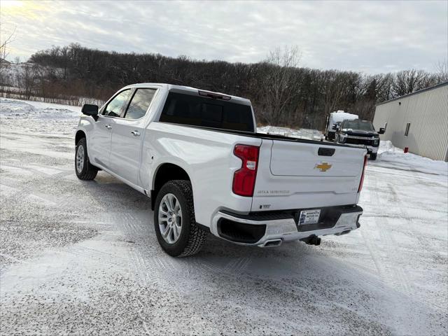
{"type": "Polygon", "coordinates": [[[155,200],[155,235],[163,250],[173,257],[198,253],[207,232],[196,224],[190,181],[165,183],[155,200]]]}

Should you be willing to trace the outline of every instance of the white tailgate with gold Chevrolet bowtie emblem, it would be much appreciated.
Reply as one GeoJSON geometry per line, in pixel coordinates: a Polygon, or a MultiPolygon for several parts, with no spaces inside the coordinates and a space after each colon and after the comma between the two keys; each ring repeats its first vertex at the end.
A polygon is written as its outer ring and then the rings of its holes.
{"type": "Polygon", "coordinates": [[[365,148],[263,139],[252,211],[356,204],[365,148]]]}

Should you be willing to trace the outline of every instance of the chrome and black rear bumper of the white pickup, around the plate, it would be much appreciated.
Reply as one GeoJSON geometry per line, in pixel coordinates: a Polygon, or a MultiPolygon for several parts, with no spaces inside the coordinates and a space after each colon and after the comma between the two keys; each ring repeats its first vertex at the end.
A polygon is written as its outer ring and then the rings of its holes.
{"type": "MultiPolygon", "coordinates": [[[[297,225],[302,209],[258,212],[248,215],[218,211],[211,223],[211,233],[241,245],[265,246],[271,241],[307,240],[309,237],[344,235],[360,227],[363,209],[356,205],[321,208],[319,223],[297,225]]],[[[276,244],[279,245],[279,244],[276,244]]]]}

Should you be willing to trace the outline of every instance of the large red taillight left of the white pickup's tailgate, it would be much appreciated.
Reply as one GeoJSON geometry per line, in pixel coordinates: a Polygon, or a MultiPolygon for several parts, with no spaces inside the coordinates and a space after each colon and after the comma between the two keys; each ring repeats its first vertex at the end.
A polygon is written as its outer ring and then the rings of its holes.
{"type": "Polygon", "coordinates": [[[240,196],[251,197],[253,196],[253,188],[255,188],[260,148],[257,146],[236,145],[233,153],[243,163],[241,168],[233,175],[232,191],[240,196]]]}

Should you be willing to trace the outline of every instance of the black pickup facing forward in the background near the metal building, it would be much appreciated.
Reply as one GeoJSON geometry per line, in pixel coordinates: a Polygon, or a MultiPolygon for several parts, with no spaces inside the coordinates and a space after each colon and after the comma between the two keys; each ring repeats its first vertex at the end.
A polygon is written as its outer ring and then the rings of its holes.
{"type": "Polygon", "coordinates": [[[377,159],[379,134],[384,134],[384,128],[377,132],[369,120],[344,120],[336,130],[336,141],[339,144],[365,146],[370,160],[377,159]]]}

